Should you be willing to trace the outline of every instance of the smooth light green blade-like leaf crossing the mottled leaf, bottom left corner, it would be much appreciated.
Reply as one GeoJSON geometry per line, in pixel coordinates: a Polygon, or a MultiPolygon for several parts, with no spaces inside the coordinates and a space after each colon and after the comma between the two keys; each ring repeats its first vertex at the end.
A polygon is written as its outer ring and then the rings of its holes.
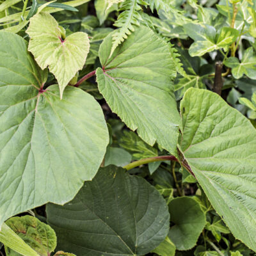
{"type": "Polygon", "coordinates": [[[0,242],[21,255],[38,256],[38,254],[5,223],[1,226],[0,242]]]}

